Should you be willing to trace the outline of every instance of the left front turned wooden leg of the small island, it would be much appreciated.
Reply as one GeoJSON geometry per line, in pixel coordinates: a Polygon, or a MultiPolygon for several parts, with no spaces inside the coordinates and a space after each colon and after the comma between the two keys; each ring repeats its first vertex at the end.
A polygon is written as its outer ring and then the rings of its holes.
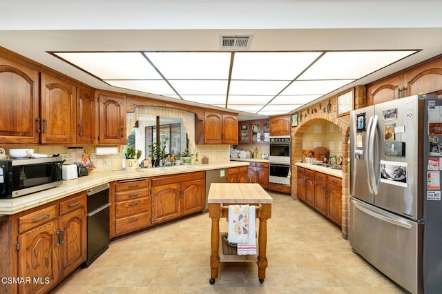
{"type": "Polygon", "coordinates": [[[218,277],[218,267],[220,266],[220,204],[209,204],[209,216],[212,219],[211,230],[211,257],[210,257],[210,284],[215,283],[215,279],[218,277]],[[212,208],[212,209],[211,209],[212,208]],[[218,211],[216,211],[218,209],[218,211]]]}

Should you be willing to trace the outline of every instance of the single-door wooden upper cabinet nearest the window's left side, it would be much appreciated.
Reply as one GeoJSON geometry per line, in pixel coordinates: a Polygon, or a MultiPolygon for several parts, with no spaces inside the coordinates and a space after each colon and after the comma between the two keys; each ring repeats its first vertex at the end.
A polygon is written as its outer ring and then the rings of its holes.
{"type": "Polygon", "coordinates": [[[126,145],[126,97],[98,95],[100,144],[126,145]]]}

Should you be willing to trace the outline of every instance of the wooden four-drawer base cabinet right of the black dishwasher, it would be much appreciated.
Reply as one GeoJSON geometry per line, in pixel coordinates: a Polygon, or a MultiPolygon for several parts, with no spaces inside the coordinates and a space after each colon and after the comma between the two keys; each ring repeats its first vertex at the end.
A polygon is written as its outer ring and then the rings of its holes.
{"type": "Polygon", "coordinates": [[[151,225],[149,179],[130,179],[115,183],[111,213],[111,237],[124,235],[151,225]],[[112,226],[111,226],[112,227],[112,226]]]}

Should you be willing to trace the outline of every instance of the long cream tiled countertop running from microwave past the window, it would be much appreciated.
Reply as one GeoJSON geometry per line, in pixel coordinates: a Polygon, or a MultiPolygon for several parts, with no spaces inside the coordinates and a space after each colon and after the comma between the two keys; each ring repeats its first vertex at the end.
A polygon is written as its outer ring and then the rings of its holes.
{"type": "Polygon", "coordinates": [[[136,170],[116,170],[112,172],[100,173],[92,172],[86,177],[63,181],[63,184],[55,188],[50,188],[38,193],[29,195],[0,199],[1,215],[13,215],[29,208],[34,208],[42,204],[52,202],[63,197],[79,193],[100,184],[106,184],[120,179],[139,179],[144,177],[154,177],[158,175],[175,175],[178,173],[191,173],[202,170],[213,170],[218,168],[231,168],[236,166],[248,166],[248,162],[230,161],[227,163],[215,164],[194,164],[182,166],[164,166],[157,168],[138,168],[136,170]]]}

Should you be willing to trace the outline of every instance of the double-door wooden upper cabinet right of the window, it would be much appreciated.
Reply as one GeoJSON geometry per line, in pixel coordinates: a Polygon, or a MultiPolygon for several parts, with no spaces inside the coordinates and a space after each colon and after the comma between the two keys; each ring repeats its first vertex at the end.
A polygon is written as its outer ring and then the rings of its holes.
{"type": "Polygon", "coordinates": [[[238,144],[238,116],[204,111],[204,144],[238,144]]]}

